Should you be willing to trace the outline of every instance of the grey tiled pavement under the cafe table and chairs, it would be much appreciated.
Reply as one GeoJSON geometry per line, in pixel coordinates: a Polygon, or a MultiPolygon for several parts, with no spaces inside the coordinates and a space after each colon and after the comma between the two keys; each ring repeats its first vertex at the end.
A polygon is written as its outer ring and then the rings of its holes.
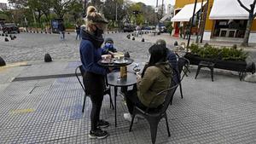
{"type": "MultiPolygon", "coordinates": [[[[53,62],[16,67],[16,77],[74,72],[79,62],[53,62]],[[50,67],[47,69],[46,67],[50,67]]],[[[183,79],[168,108],[171,137],[160,121],[156,143],[256,143],[256,84],[239,81],[230,73],[208,72],[195,79],[195,69],[183,79]]],[[[1,76],[3,77],[3,76],[1,76]]],[[[75,77],[10,82],[0,89],[0,143],[150,143],[148,122],[140,119],[129,132],[123,118],[125,103],[118,97],[118,127],[108,96],[102,118],[111,124],[104,140],[90,140],[90,99],[81,112],[84,92],[75,77]],[[20,111],[17,111],[20,110],[20,111]],[[22,112],[22,110],[27,112],[22,112]]]]}

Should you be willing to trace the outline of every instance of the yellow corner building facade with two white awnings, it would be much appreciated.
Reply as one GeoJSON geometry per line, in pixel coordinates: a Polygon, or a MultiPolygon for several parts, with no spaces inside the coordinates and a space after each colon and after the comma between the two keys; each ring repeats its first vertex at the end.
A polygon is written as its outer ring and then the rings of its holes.
{"type": "MultiPolygon", "coordinates": [[[[203,32],[204,40],[242,41],[246,31],[248,13],[241,8],[236,0],[209,0],[208,4],[207,0],[204,0],[203,3],[201,0],[197,2],[195,12],[198,16],[195,16],[195,20],[198,21],[193,22],[195,25],[193,25],[192,33],[203,32]],[[204,11],[206,11],[207,5],[207,17],[204,22],[204,11]],[[201,23],[199,22],[200,20],[201,23]],[[202,23],[205,23],[205,31],[202,30],[202,23]]],[[[253,0],[241,2],[249,8],[249,4],[253,3],[253,0]]],[[[181,27],[185,29],[185,26],[189,25],[194,7],[195,0],[176,1],[174,9],[175,16],[172,19],[175,28],[174,36],[179,36],[179,33],[182,32],[180,30],[181,27]],[[179,12],[181,13],[178,14],[179,12]],[[185,16],[188,19],[184,19],[185,16]]],[[[256,43],[256,20],[253,20],[249,43],[256,43]]]]}

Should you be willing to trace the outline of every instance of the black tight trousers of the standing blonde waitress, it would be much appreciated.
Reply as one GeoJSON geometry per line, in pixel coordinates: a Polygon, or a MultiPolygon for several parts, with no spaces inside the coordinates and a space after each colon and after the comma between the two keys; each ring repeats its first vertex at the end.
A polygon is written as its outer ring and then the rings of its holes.
{"type": "Polygon", "coordinates": [[[85,72],[83,82],[87,94],[90,95],[90,101],[92,103],[90,112],[90,130],[95,131],[100,120],[100,112],[102,108],[105,88],[104,76],[92,72],[85,72]]]}

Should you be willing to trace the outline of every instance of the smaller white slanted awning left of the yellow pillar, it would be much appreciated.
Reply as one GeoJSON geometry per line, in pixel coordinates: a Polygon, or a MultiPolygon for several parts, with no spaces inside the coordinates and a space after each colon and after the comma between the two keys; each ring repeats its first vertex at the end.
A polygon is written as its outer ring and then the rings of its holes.
{"type": "MultiPolygon", "coordinates": [[[[207,2],[204,2],[203,5],[205,5],[207,2]]],[[[181,9],[171,21],[189,21],[191,17],[193,16],[195,3],[187,4],[181,9]]],[[[201,9],[201,3],[196,4],[195,14],[201,9]]]]}

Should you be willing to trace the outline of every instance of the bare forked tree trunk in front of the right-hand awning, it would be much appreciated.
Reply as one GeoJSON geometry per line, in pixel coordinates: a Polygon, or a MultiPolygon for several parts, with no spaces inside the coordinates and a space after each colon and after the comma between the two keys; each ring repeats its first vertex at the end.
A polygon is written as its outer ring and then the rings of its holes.
{"type": "Polygon", "coordinates": [[[253,20],[256,17],[256,12],[254,12],[256,0],[254,0],[253,3],[250,4],[250,9],[247,8],[243,3],[241,3],[241,0],[237,0],[237,1],[241,5],[241,8],[246,9],[246,11],[249,13],[249,19],[247,20],[247,29],[245,32],[245,36],[243,38],[243,42],[241,43],[242,46],[248,46],[249,36],[250,36],[251,28],[253,26],[253,20]]]}

